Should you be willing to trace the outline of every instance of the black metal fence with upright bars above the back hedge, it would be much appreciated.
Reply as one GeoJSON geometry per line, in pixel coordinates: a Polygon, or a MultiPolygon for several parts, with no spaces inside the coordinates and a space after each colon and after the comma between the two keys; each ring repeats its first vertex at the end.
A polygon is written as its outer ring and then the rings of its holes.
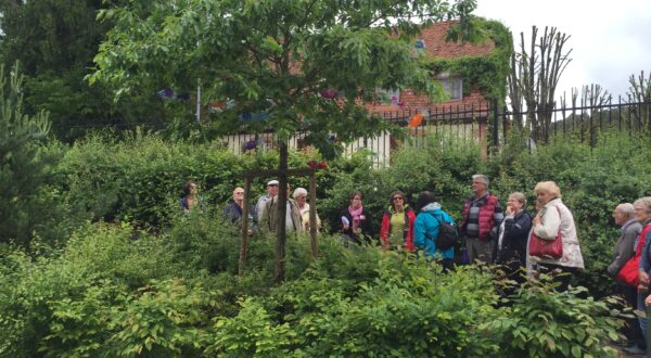
{"type": "MultiPolygon", "coordinates": [[[[484,151],[499,151],[509,141],[513,128],[523,129],[528,136],[527,143],[544,145],[556,140],[573,138],[596,145],[600,133],[616,130],[631,136],[651,135],[651,102],[609,101],[599,104],[582,102],[575,106],[561,105],[549,110],[513,112],[498,106],[497,102],[478,102],[472,104],[437,104],[419,110],[400,110],[375,113],[386,122],[403,127],[405,136],[383,132],[380,136],[359,138],[345,145],[344,155],[361,149],[373,154],[376,166],[390,164],[391,153],[404,145],[420,145],[430,135],[447,133],[463,140],[478,143],[484,151]],[[419,118],[420,117],[420,118],[419,118]]],[[[138,124],[145,129],[159,130],[161,124],[138,124]]],[[[93,128],[122,128],[119,126],[101,125],[93,128]]],[[[90,129],[90,128],[80,128],[90,129]]],[[[308,148],[306,133],[296,133],[290,139],[292,149],[308,148]]],[[[235,154],[250,150],[267,151],[276,146],[271,130],[252,135],[238,133],[221,138],[225,146],[235,154]]]]}

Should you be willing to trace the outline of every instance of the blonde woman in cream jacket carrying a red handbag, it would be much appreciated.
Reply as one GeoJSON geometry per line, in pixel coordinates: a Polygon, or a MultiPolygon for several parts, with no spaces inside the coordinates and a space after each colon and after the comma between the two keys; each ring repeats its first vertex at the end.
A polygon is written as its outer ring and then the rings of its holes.
{"type": "MultiPolygon", "coordinates": [[[[561,190],[553,181],[541,181],[536,184],[534,193],[540,210],[532,220],[532,233],[542,240],[551,241],[560,232],[563,246],[563,255],[559,258],[532,256],[532,260],[538,266],[538,271],[560,270],[574,273],[577,269],[583,269],[584,261],[576,236],[574,217],[561,201],[561,190]]],[[[561,283],[558,287],[559,291],[567,290],[571,274],[557,276],[556,279],[561,283]]]]}

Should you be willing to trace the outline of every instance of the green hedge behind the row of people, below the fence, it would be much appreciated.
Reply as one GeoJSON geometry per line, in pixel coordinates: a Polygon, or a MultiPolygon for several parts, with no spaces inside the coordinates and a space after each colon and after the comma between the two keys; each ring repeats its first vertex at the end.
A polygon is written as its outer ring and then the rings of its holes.
{"type": "MultiPolygon", "coordinates": [[[[554,180],[577,225],[587,268],[587,274],[579,276],[580,282],[595,294],[610,292],[612,281],[604,277],[604,269],[617,236],[611,213],[617,203],[651,194],[651,182],[644,178],[651,172],[644,154],[650,144],[626,133],[604,135],[597,142],[590,148],[566,138],[540,145],[533,153],[512,144],[497,156],[483,158],[473,141],[438,136],[395,153],[385,169],[373,168],[360,153],[317,171],[318,212],[327,223],[326,231],[328,227],[336,231],[348,193],[361,190],[363,205],[379,231],[393,190],[403,190],[412,203],[420,191],[430,190],[444,209],[459,219],[463,200],[471,194],[470,178],[476,172],[489,176],[490,191],[502,204],[510,192],[524,192],[533,212],[536,182],[554,180]]],[[[519,141],[512,138],[509,143],[519,141]]],[[[188,178],[199,181],[207,209],[220,213],[232,189],[242,184],[245,170],[275,168],[278,163],[273,152],[235,156],[219,143],[169,142],[151,136],[120,142],[94,137],[67,150],[55,148],[63,152],[62,159],[52,169],[47,188],[56,195],[50,202],[64,205],[62,213],[69,213],[71,218],[130,222],[154,232],[171,225],[188,178]]],[[[305,167],[310,159],[320,157],[294,152],[290,166],[305,167]]],[[[254,200],[264,192],[268,179],[256,179],[254,200]]],[[[291,182],[294,188],[308,183],[307,178],[292,178],[291,182]]],[[[71,221],[66,221],[67,227],[74,227],[71,221]]]]}

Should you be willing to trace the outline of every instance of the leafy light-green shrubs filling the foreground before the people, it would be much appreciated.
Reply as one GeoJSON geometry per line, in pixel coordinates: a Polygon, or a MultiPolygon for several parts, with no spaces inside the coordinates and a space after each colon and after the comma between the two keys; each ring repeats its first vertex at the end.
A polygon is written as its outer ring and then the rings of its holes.
{"type": "Polygon", "coordinates": [[[1,247],[0,356],[614,357],[621,321],[608,302],[545,282],[499,299],[492,269],[443,273],[328,235],[317,260],[307,238],[290,240],[288,281],[275,285],[275,242],[252,241],[237,278],[229,230],[195,214],[138,240],[87,226],[38,259],[1,247]]]}

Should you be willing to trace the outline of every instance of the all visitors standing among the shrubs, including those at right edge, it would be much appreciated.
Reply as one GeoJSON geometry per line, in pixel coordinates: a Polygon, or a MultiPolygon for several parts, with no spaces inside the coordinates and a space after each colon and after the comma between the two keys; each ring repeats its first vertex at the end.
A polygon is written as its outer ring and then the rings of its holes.
{"type": "MultiPolygon", "coordinates": [[[[277,230],[278,186],[278,180],[267,182],[267,193],[258,199],[251,213],[251,221],[263,232],[277,230]]],[[[584,268],[584,260],[574,217],[563,204],[557,183],[542,181],[536,184],[535,215],[526,210],[526,196],[522,192],[511,193],[502,212],[498,197],[488,191],[488,187],[489,180],[485,175],[472,176],[473,195],[464,201],[458,225],[432,192],[421,192],[416,207],[408,204],[401,191],[392,192],[382,215],[380,244],[384,250],[422,253],[424,257],[437,260],[444,269],[456,264],[483,261],[502,266],[514,280],[522,278],[521,268],[525,267],[529,272],[565,273],[553,277],[559,282],[557,290],[566,290],[572,273],[584,268]],[[456,226],[459,244],[449,247],[437,245],[445,225],[456,226]],[[529,252],[533,236],[549,242],[560,240],[562,254],[559,257],[533,255],[529,252]]],[[[289,184],[286,190],[285,230],[307,231],[310,225],[307,190],[297,188],[292,193],[289,184]]],[[[197,203],[196,183],[188,182],[184,192],[187,195],[181,199],[181,206],[189,210],[197,203]]],[[[232,222],[240,220],[243,203],[244,190],[235,188],[233,201],[225,208],[226,217],[232,222]]],[[[620,293],[631,307],[646,310],[646,306],[651,305],[651,196],[640,197],[633,204],[617,205],[613,217],[621,227],[621,234],[608,273],[616,278],[620,293]],[[627,270],[633,273],[625,273],[627,270]]],[[[317,227],[321,226],[318,215],[316,222],[317,227]]],[[[370,242],[374,233],[371,215],[362,205],[360,191],[349,194],[348,206],[341,213],[341,233],[346,244],[370,242]]],[[[628,329],[629,342],[635,344],[629,350],[644,351],[647,319],[629,322],[628,329]]]]}

